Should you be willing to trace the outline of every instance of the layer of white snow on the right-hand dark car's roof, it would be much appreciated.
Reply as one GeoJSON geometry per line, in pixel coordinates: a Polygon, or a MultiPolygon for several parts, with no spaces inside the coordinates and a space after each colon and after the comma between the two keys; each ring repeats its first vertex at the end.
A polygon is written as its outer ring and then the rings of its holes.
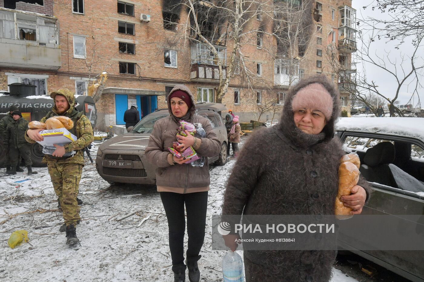
{"type": "Polygon", "coordinates": [[[360,131],[424,140],[424,119],[421,117],[340,117],[336,130],[360,131]]]}

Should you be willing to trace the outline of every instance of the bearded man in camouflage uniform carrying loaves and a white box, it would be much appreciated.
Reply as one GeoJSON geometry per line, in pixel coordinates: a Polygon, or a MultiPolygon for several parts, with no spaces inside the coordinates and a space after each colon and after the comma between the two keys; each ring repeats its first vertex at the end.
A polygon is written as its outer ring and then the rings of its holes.
{"type": "MultiPolygon", "coordinates": [[[[56,115],[69,117],[74,122],[74,127],[69,131],[77,137],[77,140],[64,146],[55,144],[56,150],[53,154],[46,154],[43,158],[43,162],[47,163],[50,178],[63,211],[66,225],[66,243],[75,244],[79,241],[76,236],[76,224],[81,220],[77,195],[78,184],[84,167],[82,150],[93,142],[93,129],[90,120],[82,112],[75,109],[75,97],[68,89],[59,89],[52,92],[50,97],[54,99],[55,106],[40,122],[45,122],[47,118],[56,115]],[[76,153],[68,157],[63,156],[66,152],[71,151],[76,151],[76,153]]],[[[28,129],[25,139],[30,143],[43,140],[43,137],[39,134],[40,130],[28,129]]]]}

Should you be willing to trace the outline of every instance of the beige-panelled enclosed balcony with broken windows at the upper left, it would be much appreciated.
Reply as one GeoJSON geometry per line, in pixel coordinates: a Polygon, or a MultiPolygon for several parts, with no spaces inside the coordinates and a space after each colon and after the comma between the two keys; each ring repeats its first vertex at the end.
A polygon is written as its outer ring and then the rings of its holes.
{"type": "Polygon", "coordinates": [[[0,67],[58,70],[61,67],[56,17],[0,8],[0,67]]]}

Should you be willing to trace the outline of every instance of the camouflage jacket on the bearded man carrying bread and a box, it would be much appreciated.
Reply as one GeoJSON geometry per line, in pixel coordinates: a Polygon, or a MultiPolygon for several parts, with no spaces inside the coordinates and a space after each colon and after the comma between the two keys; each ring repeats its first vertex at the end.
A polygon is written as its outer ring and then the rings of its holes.
{"type": "MultiPolygon", "coordinates": [[[[59,90],[62,91],[62,90],[59,90]]],[[[70,130],[72,134],[74,134],[77,137],[77,140],[64,145],[65,152],[70,151],[76,151],[76,154],[73,156],[67,157],[67,158],[55,158],[52,155],[44,155],[43,163],[47,163],[48,161],[58,162],[58,163],[75,163],[84,165],[84,152],[82,149],[84,147],[88,146],[93,142],[94,140],[94,134],[93,134],[93,128],[91,126],[91,122],[84,114],[79,113],[77,110],[75,110],[75,97],[74,95],[66,90],[64,92],[58,92],[60,95],[64,95],[69,104],[71,105],[70,108],[64,112],[63,114],[66,117],[69,117],[73,120],[75,120],[76,116],[80,116],[78,120],[76,120],[74,128],[70,130]]],[[[43,117],[40,122],[44,123],[47,118],[59,115],[56,112],[56,106],[53,106],[53,109],[47,113],[45,117],[43,117]]],[[[25,134],[25,139],[29,143],[35,143],[34,140],[30,139],[27,134],[25,134]]]]}

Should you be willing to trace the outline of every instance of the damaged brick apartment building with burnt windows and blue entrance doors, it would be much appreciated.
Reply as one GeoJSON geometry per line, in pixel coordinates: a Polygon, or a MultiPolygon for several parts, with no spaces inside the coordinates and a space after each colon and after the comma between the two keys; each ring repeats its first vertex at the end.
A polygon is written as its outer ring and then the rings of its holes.
{"type": "Polygon", "coordinates": [[[104,130],[124,124],[131,104],[141,117],[166,108],[176,84],[241,121],[278,118],[290,85],[324,73],[350,113],[351,0],[251,1],[241,14],[223,12],[239,2],[0,0],[0,90],[20,82],[36,85],[37,95],[59,88],[88,95],[106,72],[96,102],[104,130]]]}

